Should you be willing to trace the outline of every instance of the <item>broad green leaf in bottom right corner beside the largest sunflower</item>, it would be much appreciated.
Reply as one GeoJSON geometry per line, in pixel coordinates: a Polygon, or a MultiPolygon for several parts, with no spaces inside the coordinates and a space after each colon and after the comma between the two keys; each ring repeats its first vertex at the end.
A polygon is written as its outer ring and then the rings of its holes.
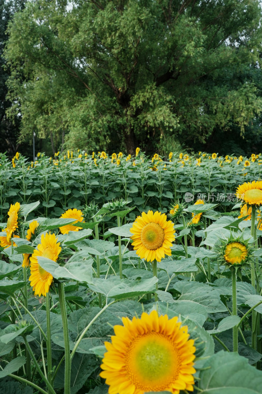
{"type": "Polygon", "coordinates": [[[260,394],[262,371],[237,353],[220,351],[210,357],[200,372],[202,394],[260,394]]]}

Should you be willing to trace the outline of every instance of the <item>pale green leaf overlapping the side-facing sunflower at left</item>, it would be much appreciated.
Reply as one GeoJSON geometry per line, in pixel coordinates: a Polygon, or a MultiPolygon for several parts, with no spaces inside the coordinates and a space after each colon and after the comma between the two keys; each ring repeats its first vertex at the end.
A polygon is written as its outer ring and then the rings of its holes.
{"type": "Polygon", "coordinates": [[[38,256],[39,265],[56,279],[75,280],[80,283],[92,283],[92,259],[59,265],[46,257],[38,256]]]}

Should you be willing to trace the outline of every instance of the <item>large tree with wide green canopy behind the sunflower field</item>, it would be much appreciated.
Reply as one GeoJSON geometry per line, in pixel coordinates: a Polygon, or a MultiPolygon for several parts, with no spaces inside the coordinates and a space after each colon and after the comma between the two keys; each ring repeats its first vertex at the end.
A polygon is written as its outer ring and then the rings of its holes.
{"type": "Polygon", "coordinates": [[[29,1],[8,29],[9,115],[88,151],[244,132],[261,16],[258,0],[29,1]]]}

